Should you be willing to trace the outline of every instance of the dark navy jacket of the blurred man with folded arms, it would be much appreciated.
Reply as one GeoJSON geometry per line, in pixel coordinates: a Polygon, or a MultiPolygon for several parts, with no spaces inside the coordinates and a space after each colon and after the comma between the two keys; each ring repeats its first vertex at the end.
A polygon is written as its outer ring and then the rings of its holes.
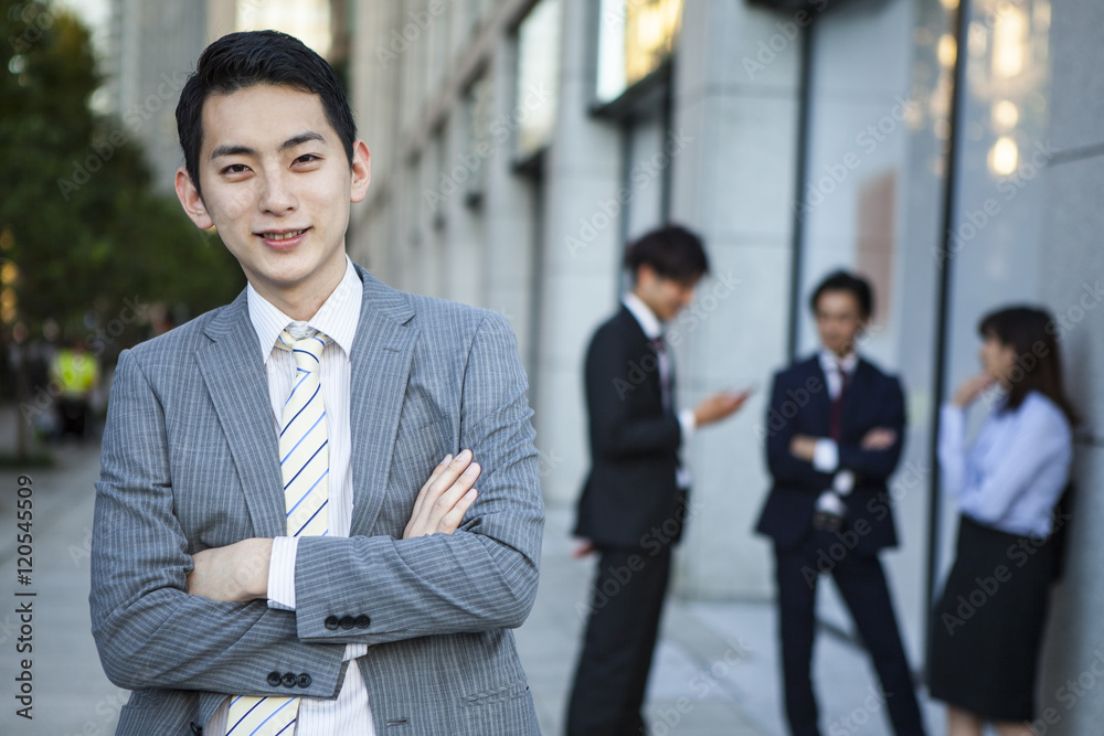
{"type": "MultiPolygon", "coordinates": [[[[830,412],[828,384],[816,355],[775,375],[766,422],[766,459],[774,484],[755,530],[781,550],[796,547],[813,530],[817,497],[832,482],[831,473],[790,455],[790,440],[794,435],[827,437],[830,412]]],[[[874,554],[896,545],[885,483],[901,458],[904,426],[901,383],[860,359],[843,397],[839,441],[839,468],[856,473],[854,490],[845,500],[848,516],[841,533],[856,532],[847,538],[857,552],[874,554]],[[896,442],[884,450],[862,449],[862,437],[874,427],[896,431],[896,442]]]]}

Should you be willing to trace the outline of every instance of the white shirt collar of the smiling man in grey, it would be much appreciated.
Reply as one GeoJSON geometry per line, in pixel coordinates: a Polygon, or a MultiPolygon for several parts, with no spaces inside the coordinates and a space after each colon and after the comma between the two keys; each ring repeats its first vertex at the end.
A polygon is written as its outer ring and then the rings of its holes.
{"type": "MultiPolygon", "coordinates": [[[[276,338],[295,320],[262,297],[252,284],[245,289],[250,307],[250,321],[253,322],[253,329],[257,332],[261,354],[265,356],[267,365],[268,358],[276,348],[276,338]]],[[[352,265],[352,260],[346,255],[344,276],[341,277],[337,288],[330,292],[315,316],[307,320],[307,324],[329,335],[344,351],[346,355],[349,355],[352,352],[353,338],[357,335],[357,326],[360,323],[360,307],[363,299],[364,286],[352,265]]]]}

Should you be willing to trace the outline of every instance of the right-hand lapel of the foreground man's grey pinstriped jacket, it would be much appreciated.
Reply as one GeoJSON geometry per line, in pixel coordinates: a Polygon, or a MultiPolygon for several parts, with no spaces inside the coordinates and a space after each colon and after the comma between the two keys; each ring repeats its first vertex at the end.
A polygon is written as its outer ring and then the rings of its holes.
{"type": "Polygon", "coordinates": [[[403,295],[360,266],[357,271],[364,282],[364,300],[349,356],[353,480],[350,535],[370,533],[380,515],[418,335],[418,328],[411,323],[414,310],[403,295]]]}

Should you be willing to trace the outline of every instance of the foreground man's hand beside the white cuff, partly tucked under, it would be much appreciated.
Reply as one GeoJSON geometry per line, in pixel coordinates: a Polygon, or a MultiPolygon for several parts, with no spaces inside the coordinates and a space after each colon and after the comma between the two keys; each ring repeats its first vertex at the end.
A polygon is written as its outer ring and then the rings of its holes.
{"type": "Polygon", "coordinates": [[[188,593],[238,604],[266,599],[272,554],[273,541],[257,537],[197,552],[188,593]]]}

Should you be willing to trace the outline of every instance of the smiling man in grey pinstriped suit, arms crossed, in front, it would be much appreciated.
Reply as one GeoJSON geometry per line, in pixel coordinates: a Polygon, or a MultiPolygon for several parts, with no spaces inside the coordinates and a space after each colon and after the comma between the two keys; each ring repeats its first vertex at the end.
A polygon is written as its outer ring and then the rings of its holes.
{"type": "Polygon", "coordinates": [[[538,734],[509,629],[543,509],[508,323],[349,260],[369,152],[296,39],[213,43],[177,121],[180,201],[248,287],[119,358],[91,596],[137,691],[118,733],[538,734]]]}

